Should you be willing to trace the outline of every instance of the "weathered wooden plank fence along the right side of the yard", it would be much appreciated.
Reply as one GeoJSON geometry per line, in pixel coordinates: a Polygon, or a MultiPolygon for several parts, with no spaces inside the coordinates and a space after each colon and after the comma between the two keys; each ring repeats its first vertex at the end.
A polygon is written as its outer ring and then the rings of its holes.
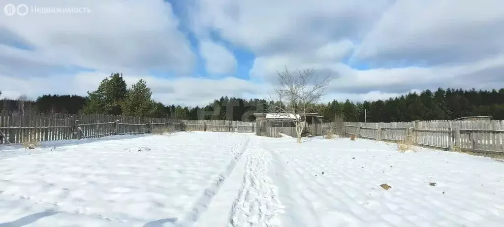
{"type": "Polygon", "coordinates": [[[394,123],[323,123],[323,133],[386,140],[411,141],[435,149],[473,152],[504,152],[504,121],[415,121],[394,123]],[[337,130],[342,129],[342,130],[337,130]]]}

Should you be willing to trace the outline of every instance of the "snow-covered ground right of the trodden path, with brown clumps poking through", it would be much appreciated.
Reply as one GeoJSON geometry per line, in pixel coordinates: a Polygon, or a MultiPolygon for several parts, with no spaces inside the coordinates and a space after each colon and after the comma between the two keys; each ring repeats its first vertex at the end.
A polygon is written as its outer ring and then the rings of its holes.
{"type": "Polygon", "coordinates": [[[504,164],[373,141],[265,139],[284,226],[501,226],[504,164]],[[436,183],[430,186],[429,183],[436,183]],[[388,184],[388,191],[380,187],[388,184]]]}

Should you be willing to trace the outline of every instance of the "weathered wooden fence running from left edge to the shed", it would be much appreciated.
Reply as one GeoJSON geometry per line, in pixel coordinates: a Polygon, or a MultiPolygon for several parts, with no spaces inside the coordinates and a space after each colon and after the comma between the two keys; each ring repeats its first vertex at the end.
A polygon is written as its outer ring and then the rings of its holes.
{"type": "Polygon", "coordinates": [[[186,130],[251,133],[255,130],[255,123],[205,120],[175,121],[157,118],[61,113],[0,115],[0,144],[186,130]]]}

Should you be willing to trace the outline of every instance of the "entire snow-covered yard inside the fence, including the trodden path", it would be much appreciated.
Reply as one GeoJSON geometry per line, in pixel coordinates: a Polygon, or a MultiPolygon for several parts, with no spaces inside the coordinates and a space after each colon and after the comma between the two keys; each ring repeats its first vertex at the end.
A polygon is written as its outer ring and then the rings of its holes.
{"type": "Polygon", "coordinates": [[[504,222],[504,162],[461,153],[212,132],[15,148],[0,148],[0,227],[504,222]]]}

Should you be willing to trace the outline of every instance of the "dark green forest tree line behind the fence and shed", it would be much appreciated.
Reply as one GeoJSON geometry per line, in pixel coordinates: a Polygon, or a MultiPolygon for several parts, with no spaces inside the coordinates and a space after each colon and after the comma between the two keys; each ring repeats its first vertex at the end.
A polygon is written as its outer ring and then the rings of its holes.
{"type": "MultiPolygon", "coordinates": [[[[85,97],[48,94],[36,100],[1,99],[0,112],[104,113],[184,120],[254,121],[253,113],[267,112],[270,103],[266,99],[225,96],[206,106],[188,107],[164,105],[151,96],[145,81],[140,80],[128,88],[122,75],[114,73],[85,97]]],[[[324,116],[326,122],[335,118],[347,122],[364,122],[364,118],[367,122],[409,122],[469,116],[492,116],[495,120],[504,120],[504,88],[491,91],[438,88],[434,92],[411,92],[387,100],[333,100],[316,105],[312,111],[324,116]]]]}

